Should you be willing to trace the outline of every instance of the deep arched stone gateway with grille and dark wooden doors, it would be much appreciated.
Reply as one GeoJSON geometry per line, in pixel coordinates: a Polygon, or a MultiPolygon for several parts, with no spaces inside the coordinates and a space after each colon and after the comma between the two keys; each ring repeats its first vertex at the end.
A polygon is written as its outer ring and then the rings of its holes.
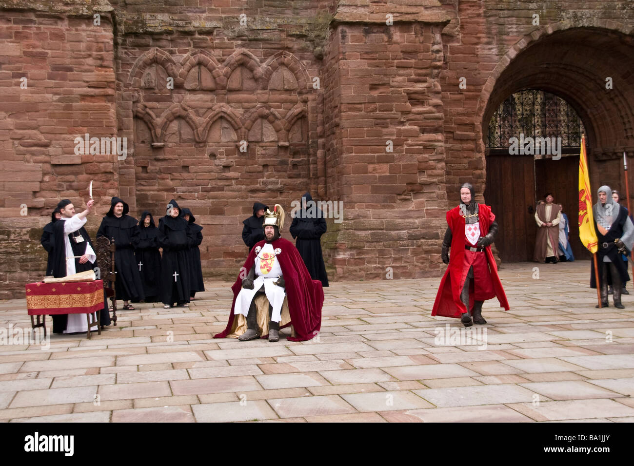
{"type": "Polygon", "coordinates": [[[507,53],[512,60],[505,66],[501,60],[484,87],[495,83],[481,100],[486,101],[481,120],[484,197],[500,216],[496,247],[503,261],[533,259],[534,206],[547,191],[571,221],[575,256],[590,257],[576,224],[580,133],[586,133],[593,190],[607,184],[624,195],[623,152],[630,157],[634,152],[634,42],[623,33],[626,29],[611,26],[548,27],[512,48],[507,53]],[[531,98],[534,107],[522,110],[531,98]],[[519,153],[510,138],[522,135],[561,137],[562,153],[546,150],[542,155],[538,148],[519,153]]]}

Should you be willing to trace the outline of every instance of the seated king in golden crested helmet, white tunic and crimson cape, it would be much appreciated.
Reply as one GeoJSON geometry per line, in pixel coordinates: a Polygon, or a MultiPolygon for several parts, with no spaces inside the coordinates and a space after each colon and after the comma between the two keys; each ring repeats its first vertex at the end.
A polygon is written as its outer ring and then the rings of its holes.
{"type": "Polygon", "coordinates": [[[280,328],[291,327],[289,341],[310,340],[321,327],[323,288],[313,280],[293,243],[280,237],[284,210],[276,204],[264,214],[264,240],[249,252],[233,283],[233,304],[224,332],[214,338],[249,341],[268,335],[280,340],[280,328]],[[246,274],[246,276],[245,276],[246,274]]]}

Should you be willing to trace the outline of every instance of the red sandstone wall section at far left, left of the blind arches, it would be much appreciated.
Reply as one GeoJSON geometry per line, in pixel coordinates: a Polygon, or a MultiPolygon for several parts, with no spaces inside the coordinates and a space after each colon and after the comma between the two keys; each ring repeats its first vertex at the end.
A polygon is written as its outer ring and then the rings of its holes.
{"type": "Polygon", "coordinates": [[[85,205],[91,179],[96,200],[118,192],[116,156],[74,154],[76,136],[116,136],[114,83],[107,15],[94,26],[92,16],[2,11],[0,297],[41,278],[41,228],[60,198],[85,205]]]}

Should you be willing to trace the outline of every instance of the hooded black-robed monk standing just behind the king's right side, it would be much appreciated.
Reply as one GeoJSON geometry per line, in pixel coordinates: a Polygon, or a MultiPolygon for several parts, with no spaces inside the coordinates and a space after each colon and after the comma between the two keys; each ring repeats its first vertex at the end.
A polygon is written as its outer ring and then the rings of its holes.
{"type": "Polygon", "coordinates": [[[317,209],[310,193],[302,196],[302,209],[290,224],[290,234],[295,247],[304,259],[304,264],[313,280],[320,280],[322,287],[328,286],[328,275],[321,254],[321,235],[326,233],[326,219],[321,209],[317,209]]]}

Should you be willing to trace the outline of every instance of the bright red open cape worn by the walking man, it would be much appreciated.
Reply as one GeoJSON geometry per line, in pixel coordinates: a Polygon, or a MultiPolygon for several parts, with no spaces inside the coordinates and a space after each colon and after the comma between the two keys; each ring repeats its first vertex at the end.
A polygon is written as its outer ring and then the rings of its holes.
{"type": "MultiPolygon", "coordinates": [[[[480,235],[484,236],[489,232],[489,226],[491,222],[495,220],[495,215],[491,212],[491,207],[484,204],[478,204],[480,221],[480,235]]],[[[465,261],[465,219],[460,215],[460,207],[454,207],[447,212],[447,224],[451,228],[451,250],[449,267],[444,273],[443,279],[440,282],[438,293],[436,294],[436,301],[434,301],[434,309],[432,309],[432,316],[444,316],[460,318],[463,313],[467,312],[467,308],[460,301],[460,292],[464,283],[460,283],[462,278],[462,268],[465,261]]],[[[504,307],[508,311],[507,295],[502,288],[500,277],[498,276],[498,266],[493,259],[493,253],[491,253],[491,246],[484,248],[484,254],[486,254],[486,261],[489,264],[489,273],[491,274],[491,281],[493,282],[493,288],[495,289],[495,295],[500,301],[500,307],[504,307]]],[[[472,294],[469,301],[472,301],[472,294]]],[[[472,303],[470,303],[471,305],[472,303]]]]}

